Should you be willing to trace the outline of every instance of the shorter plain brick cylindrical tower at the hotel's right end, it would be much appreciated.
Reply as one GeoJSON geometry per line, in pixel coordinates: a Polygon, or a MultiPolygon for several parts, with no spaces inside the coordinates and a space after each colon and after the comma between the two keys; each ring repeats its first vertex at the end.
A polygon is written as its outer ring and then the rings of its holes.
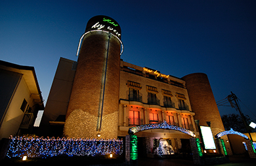
{"type": "Polygon", "coordinates": [[[213,135],[224,131],[221,115],[207,75],[193,73],[182,77],[182,79],[186,81],[190,105],[192,111],[196,113],[194,119],[200,120],[200,125],[205,126],[207,126],[207,122],[211,122],[213,135]]]}

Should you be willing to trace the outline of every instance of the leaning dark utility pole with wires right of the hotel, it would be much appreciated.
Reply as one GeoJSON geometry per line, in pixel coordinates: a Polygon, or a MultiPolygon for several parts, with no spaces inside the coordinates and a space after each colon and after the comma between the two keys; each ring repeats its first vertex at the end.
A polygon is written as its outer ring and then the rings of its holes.
{"type": "Polygon", "coordinates": [[[249,129],[247,128],[248,125],[247,125],[247,122],[245,121],[244,114],[242,113],[240,105],[238,104],[238,97],[236,97],[236,95],[234,93],[232,93],[232,91],[230,91],[230,92],[231,92],[231,95],[228,95],[228,101],[229,101],[231,107],[235,108],[240,113],[242,120],[244,122],[244,125],[245,125],[245,129],[247,130],[251,141],[253,141],[253,139],[251,137],[251,133],[249,132],[249,129]],[[234,101],[234,103],[233,103],[233,101],[234,101]]]}

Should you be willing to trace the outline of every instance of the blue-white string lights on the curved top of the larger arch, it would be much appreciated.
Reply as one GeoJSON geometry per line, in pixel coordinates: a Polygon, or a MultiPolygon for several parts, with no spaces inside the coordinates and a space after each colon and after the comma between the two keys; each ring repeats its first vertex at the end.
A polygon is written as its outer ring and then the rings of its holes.
{"type": "Polygon", "coordinates": [[[147,129],[173,129],[176,131],[181,131],[182,133],[186,133],[187,135],[190,135],[191,137],[196,137],[194,132],[192,132],[188,129],[185,129],[183,127],[179,127],[177,125],[167,124],[167,122],[165,120],[161,124],[146,124],[146,125],[139,125],[136,127],[131,127],[131,128],[129,128],[128,133],[134,134],[134,133],[137,133],[138,131],[144,131],[147,129]]]}

